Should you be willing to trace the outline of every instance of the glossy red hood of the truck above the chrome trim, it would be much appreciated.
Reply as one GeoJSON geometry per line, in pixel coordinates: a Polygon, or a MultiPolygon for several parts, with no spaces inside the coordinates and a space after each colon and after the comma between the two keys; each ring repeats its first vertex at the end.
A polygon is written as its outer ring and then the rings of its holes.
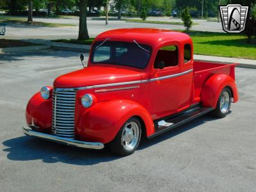
{"type": "Polygon", "coordinates": [[[77,88],[98,84],[140,81],[141,72],[115,67],[87,67],[57,77],[54,88],[77,88]]]}

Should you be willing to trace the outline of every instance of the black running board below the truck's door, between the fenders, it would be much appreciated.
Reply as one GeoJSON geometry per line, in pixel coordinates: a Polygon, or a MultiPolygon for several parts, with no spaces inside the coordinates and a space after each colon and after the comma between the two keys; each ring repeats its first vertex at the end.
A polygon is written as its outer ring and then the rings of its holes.
{"type": "Polygon", "coordinates": [[[165,118],[164,120],[160,120],[154,123],[155,133],[148,136],[148,139],[154,138],[159,134],[163,134],[166,131],[170,131],[176,127],[179,127],[182,124],[186,124],[187,122],[198,118],[199,116],[205,115],[210,111],[214,110],[214,108],[200,108],[196,107],[193,109],[189,109],[188,111],[184,111],[178,116],[165,118]]]}

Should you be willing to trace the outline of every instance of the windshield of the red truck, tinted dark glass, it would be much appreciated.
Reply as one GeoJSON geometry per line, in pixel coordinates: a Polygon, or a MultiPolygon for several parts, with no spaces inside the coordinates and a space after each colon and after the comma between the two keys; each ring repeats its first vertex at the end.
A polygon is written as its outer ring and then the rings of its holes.
{"type": "Polygon", "coordinates": [[[147,67],[152,51],[149,45],[110,40],[104,44],[95,42],[92,49],[91,63],[108,63],[136,68],[147,67]]]}

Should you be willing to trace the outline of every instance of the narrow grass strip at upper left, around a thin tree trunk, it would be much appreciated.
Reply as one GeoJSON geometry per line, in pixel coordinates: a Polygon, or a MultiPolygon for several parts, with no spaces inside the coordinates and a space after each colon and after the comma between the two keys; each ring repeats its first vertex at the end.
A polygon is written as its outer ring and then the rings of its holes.
{"type": "Polygon", "coordinates": [[[1,23],[6,23],[6,22],[12,22],[12,23],[18,23],[18,24],[29,24],[33,26],[45,26],[45,27],[51,27],[51,28],[60,28],[60,27],[72,27],[76,25],[72,24],[59,24],[59,23],[51,23],[51,22],[38,22],[38,21],[33,21],[33,22],[28,22],[26,18],[24,17],[4,17],[0,16],[0,24],[1,23]]]}

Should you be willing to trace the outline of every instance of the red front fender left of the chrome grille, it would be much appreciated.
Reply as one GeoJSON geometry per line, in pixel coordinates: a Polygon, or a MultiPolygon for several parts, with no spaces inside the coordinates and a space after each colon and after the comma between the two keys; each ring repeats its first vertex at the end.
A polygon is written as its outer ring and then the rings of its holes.
{"type": "Polygon", "coordinates": [[[40,92],[31,97],[26,108],[26,122],[39,127],[39,131],[51,131],[52,100],[44,100],[40,92]]]}

